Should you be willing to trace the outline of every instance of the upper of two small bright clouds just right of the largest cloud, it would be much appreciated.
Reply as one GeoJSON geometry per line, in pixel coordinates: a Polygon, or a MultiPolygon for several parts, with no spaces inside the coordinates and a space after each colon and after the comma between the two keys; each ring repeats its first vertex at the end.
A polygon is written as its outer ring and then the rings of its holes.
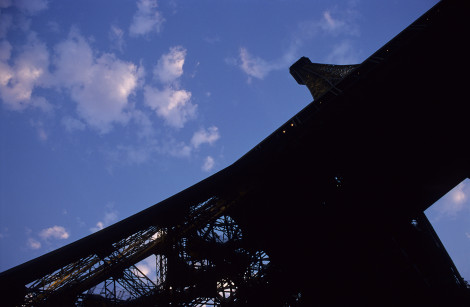
{"type": "Polygon", "coordinates": [[[186,49],[181,46],[170,48],[170,52],[164,54],[153,71],[154,76],[162,83],[171,83],[183,75],[183,65],[186,57],[186,49]]]}

